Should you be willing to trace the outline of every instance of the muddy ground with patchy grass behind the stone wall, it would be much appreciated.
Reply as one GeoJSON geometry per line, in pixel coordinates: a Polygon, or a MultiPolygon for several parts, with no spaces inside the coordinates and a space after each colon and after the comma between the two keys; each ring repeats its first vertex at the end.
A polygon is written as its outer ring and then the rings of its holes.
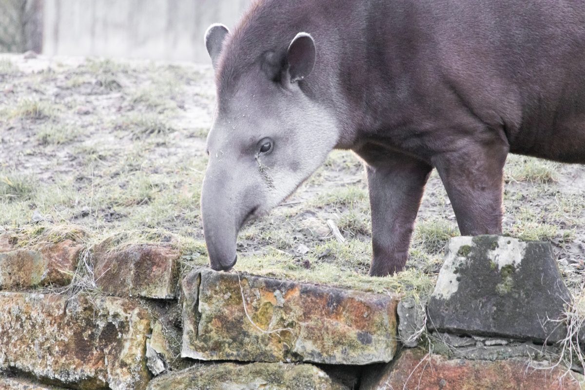
{"type": "MultiPolygon", "coordinates": [[[[185,265],[207,264],[199,195],[211,67],[4,55],[0,89],[0,233],[63,227],[84,232],[88,244],[171,241],[185,265]]],[[[567,285],[582,294],[585,167],[510,156],[505,181],[504,233],[550,241],[567,285]]],[[[243,229],[236,270],[426,293],[446,241],[459,234],[436,172],[405,272],[367,276],[370,234],[362,164],[333,151],[290,199],[243,229]]]]}

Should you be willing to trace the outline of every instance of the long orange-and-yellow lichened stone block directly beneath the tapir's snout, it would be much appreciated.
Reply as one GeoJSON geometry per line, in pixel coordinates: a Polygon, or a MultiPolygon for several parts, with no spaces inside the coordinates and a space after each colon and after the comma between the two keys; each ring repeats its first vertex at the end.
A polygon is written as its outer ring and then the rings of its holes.
{"type": "Polygon", "coordinates": [[[394,357],[395,296],[238,278],[205,269],[183,280],[181,356],[356,365],[394,357]]]}

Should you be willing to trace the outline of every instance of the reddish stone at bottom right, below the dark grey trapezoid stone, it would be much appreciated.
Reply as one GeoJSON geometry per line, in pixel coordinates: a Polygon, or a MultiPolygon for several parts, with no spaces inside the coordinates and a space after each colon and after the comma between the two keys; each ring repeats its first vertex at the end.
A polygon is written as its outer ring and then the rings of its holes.
{"type": "Polygon", "coordinates": [[[396,361],[362,376],[360,390],[581,390],[583,375],[549,362],[512,358],[448,360],[420,349],[404,350],[396,361]]]}

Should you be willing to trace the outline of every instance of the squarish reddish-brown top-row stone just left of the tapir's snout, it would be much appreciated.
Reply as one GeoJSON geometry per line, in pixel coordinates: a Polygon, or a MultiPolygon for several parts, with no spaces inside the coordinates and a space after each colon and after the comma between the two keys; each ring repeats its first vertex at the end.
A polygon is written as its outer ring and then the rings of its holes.
{"type": "Polygon", "coordinates": [[[94,253],[95,284],[105,294],[173,299],[178,282],[175,249],[153,244],[94,253]]]}

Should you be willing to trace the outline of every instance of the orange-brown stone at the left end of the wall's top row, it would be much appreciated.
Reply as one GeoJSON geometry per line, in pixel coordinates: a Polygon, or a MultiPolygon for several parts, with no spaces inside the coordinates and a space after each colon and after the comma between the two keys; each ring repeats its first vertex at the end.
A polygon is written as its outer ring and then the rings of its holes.
{"type": "Polygon", "coordinates": [[[69,284],[81,249],[71,240],[19,249],[5,236],[0,245],[0,290],[69,284]]]}

